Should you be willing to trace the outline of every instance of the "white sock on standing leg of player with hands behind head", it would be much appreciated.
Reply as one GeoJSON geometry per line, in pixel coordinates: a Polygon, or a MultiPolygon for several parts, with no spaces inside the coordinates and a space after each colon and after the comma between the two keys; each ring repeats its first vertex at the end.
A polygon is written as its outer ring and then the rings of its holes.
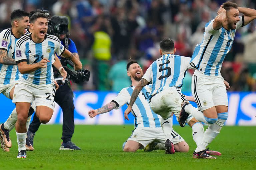
{"type": "Polygon", "coordinates": [[[226,120],[218,119],[214,124],[209,125],[205,130],[204,137],[201,143],[197,146],[196,152],[205,150],[206,147],[212,142],[213,139],[220,133],[221,128],[223,127],[226,120]]]}

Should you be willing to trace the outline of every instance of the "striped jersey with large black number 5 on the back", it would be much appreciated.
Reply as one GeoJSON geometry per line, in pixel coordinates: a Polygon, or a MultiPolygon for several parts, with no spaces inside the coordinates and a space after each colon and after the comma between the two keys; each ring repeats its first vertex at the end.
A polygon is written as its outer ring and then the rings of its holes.
{"type": "Polygon", "coordinates": [[[190,59],[175,54],[164,54],[154,61],[142,77],[152,84],[151,96],[170,87],[181,88],[187,69],[192,68],[190,59]]]}

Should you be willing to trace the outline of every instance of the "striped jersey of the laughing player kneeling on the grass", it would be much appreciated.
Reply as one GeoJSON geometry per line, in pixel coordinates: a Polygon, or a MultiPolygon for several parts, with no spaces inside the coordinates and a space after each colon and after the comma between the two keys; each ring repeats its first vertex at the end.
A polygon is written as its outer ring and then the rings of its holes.
{"type": "MultiPolygon", "coordinates": [[[[115,102],[118,109],[124,104],[129,105],[132,92],[135,86],[123,88],[116,98],[112,100],[115,102]]],[[[160,116],[155,114],[149,105],[149,96],[151,92],[151,85],[145,86],[138,95],[134,105],[132,106],[132,114],[135,117],[134,125],[136,127],[151,127],[160,128],[160,116]]]]}

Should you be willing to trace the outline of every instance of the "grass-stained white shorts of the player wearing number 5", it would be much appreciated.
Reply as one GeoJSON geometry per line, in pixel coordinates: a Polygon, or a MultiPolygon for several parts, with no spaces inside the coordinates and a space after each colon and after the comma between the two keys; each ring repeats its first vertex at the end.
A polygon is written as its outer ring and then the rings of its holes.
{"type": "MultiPolygon", "coordinates": [[[[187,101],[185,95],[180,92],[178,88],[172,87],[164,89],[161,92],[154,95],[150,100],[151,109],[163,119],[167,119],[173,113],[178,120],[181,103],[187,101]]],[[[189,122],[193,117],[189,117],[187,122],[189,122]]]]}

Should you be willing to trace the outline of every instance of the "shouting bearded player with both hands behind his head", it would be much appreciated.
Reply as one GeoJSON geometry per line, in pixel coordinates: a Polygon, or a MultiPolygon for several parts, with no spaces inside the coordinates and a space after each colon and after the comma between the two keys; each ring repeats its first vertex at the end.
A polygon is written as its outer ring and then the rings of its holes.
{"type": "Polygon", "coordinates": [[[192,94],[200,111],[184,102],[180,121],[183,124],[188,114],[191,114],[198,121],[210,125],[193,153],[194,158],[215,158],[210,157],[205,149],[219,134],[228,118],[228,98],[220,74],[222,62],[231,49],[236,30],[255,18],[254,9],[238,7],[232,2],[223,3],[216,18],[205,25],[203,41],[195,47],[190,61],[196,68],[192,94]],[[239,12],[244,15],[239,16],[239,12]]]}

